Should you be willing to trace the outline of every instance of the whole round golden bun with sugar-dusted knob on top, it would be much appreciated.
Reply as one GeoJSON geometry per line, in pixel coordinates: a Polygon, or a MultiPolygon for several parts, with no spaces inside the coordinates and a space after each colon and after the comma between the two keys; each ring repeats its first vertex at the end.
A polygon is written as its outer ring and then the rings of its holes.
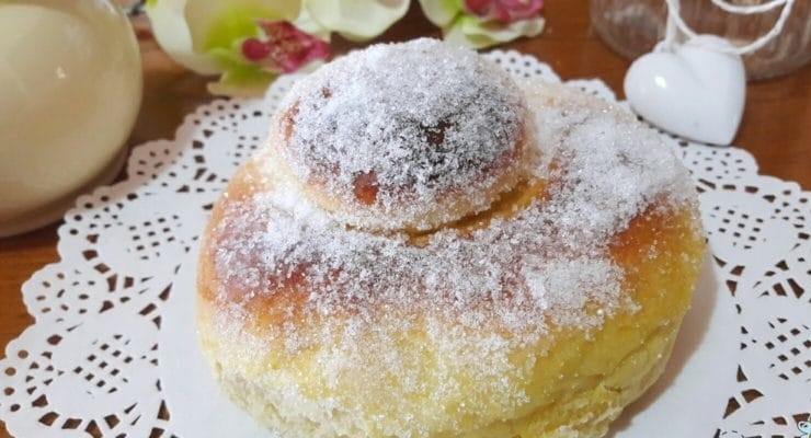
{"type": "Polygon", "coordinates": [[[625,111],[418,39],[300,81],[270,139],[214,208],[198,328],[283,436],[599,437],[661,374],[704,239],[625,111]]]}

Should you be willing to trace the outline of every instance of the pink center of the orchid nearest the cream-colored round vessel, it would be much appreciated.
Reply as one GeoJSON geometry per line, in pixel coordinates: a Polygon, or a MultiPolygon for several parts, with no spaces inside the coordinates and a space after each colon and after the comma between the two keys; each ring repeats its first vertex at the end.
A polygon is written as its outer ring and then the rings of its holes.
{"type": "Polygon", "coordinates": [[[316,59],[330,56],[330,45],[299,31],[287,21],[260,21],[262,38],[242,42],[242,56],[254,64],[283,73],[292,73],[316,59]]]}

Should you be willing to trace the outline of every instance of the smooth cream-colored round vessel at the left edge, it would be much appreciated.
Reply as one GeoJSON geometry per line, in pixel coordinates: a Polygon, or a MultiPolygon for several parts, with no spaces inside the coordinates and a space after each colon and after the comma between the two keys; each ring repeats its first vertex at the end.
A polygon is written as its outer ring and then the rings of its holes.
{"type": "Polygon", "coordinates": [[[115,176],[141,83],[133,30],[106,0],[0,2],[0,237],[115,176]]]}

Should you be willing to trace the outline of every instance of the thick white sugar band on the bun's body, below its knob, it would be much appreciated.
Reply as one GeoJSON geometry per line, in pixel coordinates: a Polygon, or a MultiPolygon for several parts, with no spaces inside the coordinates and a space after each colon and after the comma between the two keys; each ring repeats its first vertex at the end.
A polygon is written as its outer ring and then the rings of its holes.
{"type": "Polygon", "coordinates": [[[347,228],[279,185],[273,163],[263,163],[272,188],[229,204],[216,231],[227,237],[216,245],[222,298],[274,293],[301,277],[307,312],[351,309],[369,324],[384,307],[533,335],[547,322],[599,324],[628,304],[622,273],[606,253],[612,237],[654,203],[678,207],[692,188],[673,153],[636,120],[599,112],[576,124],[564,117],[540,112],[536,120],[566,126],[540,138],[558,141],[545,151],[553,154],[551,169],[534,170],[547,181],[546,196],[483,228],[434,230],[421,245],[406,232],[347,228]],[[586,303],[599,312],[590,314],[586,303]]]}

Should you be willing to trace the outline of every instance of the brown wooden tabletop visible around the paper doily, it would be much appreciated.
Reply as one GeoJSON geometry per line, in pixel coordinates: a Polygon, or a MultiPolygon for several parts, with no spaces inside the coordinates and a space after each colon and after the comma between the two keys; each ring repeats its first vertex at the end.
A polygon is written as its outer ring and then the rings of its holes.
{"type": "MultiPolygon", "coordinates": [[[[416,4],[416,2],[413,2],[416,4]]],[[[628,61],[609,51],[590,26],[585,0],[550,0],[547,26],[532,39],[503,48],[532,54],[550,64],[564,79],[599,78],[621,96],[628,61]]],[[[377,41],[438,36],[418,8],[377,41]]],[[[144,104],[129,145],[171,138],[182,117],[212,99],[199,78],[173,64],[148,31],[139,32],[145,73],[144,104]]],[[[338,41],[335,51],[354,45],[338,41]]],[[[811,188],[811,66],[776,80],[749,85],[746,111],[734,143],[752,152],[761,173],[796,181],[811,188]]],[[[32,323],[20,287],[42,266],[56,262],[58,224],[24,235],[0,239],[0,345],[32,323]]],[[[8,437],[0,427],[0,437],[8,437]]],[[[27,438],[27,437],[26,437],[27,438]]]]}

